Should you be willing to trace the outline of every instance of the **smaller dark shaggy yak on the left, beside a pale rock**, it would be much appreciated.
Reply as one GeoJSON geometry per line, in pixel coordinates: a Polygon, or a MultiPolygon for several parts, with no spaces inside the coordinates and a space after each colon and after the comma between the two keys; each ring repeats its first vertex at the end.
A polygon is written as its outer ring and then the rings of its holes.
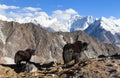
{"type": "Polygon", "coordinates": [[[15,63],[17,64],[17,66],[20,66],[22,61],[26,61],[27,63],[30,61],[32,55],[35,55],[35,50],[32,49],[26,49],[25,51],[19,50],[15,54],[14,58],[15,63]]]}

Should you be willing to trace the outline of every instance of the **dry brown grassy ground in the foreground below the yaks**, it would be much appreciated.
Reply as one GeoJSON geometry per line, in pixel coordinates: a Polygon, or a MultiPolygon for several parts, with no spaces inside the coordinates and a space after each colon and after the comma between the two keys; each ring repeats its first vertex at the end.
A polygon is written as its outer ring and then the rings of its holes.
{"type": "Polygon", "coordinates": [[[58,65],[50,68],[41,68],[36,72],[16,73],[10,67],[0,66],[0,78],[113,78],[120,77],[120,60],[116,59],[90,59],[84,64],[75,65],[69,68],[62,68],[58,65]]]}

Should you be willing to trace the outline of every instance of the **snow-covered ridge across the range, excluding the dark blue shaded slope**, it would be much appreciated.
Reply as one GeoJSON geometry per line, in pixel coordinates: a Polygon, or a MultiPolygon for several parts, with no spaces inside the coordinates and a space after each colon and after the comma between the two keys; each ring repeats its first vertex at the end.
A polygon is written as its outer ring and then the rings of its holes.
{"type": "MultiPolygon", "coordinates": [[[[24,18],[7,18],[6,16],[0,15],[0,20],[3,21],[15,21],[19,23],[29,23],[32,22],[36,25],[40,25],[44,28],[50,29],[50,31],[63,31],[63,32],[71,32],[75,30],[85,30],[91,24],[99,23],[100,27],[105,29],[106,31],[110,31],[112,34],[120,33],[120,19],[116,19],[115,17],[105,18],[101,17],[99,19],[94,19],[92,16],[80,16],[75,14],[70,16],[68,20],[61,20],[57,17],[48,16],[46,13],[39,13],[39,16],[36,15],[34,17],[24,17],[24,18]],[[95,22],[94,22],[95,21],[95,22]]],[[[90,30],[92,31],[92,30],[90,30]]]]}

